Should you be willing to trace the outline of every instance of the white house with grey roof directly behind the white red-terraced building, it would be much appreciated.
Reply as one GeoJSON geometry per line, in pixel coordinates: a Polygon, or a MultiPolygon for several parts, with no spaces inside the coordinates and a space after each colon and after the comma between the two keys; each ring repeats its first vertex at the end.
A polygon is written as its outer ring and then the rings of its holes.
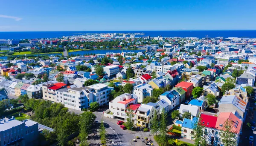
{"type": "Polygon", "coordinates": [[[140,84],[134,86],[133,94],[138,97],[138,103],[142,103],[143,99],[147,96],[152,96],[153,88],[149,84],[140,84]]]}

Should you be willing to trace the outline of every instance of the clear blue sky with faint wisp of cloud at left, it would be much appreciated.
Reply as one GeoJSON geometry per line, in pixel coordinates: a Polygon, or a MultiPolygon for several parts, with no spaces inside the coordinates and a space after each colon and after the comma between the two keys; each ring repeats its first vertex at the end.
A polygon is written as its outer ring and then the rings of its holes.
{"type": "Polygon", "coordinates": [[[0,0],[0,31],[256,30],[256,0],[0,0]]]}

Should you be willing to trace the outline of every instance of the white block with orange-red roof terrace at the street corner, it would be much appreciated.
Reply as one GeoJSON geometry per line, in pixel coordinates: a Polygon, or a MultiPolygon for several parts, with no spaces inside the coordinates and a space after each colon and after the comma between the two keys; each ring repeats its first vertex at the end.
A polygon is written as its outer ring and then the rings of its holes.
{"type": "Polygon", "coordinates": [[[125,120],[126,108],[128,107],[128,105],[136,103],[137,98],[134,98],[133,94],[124,93],[109,102],[109,109],[113,113],[113,118],[118,117],[125,120]]]}

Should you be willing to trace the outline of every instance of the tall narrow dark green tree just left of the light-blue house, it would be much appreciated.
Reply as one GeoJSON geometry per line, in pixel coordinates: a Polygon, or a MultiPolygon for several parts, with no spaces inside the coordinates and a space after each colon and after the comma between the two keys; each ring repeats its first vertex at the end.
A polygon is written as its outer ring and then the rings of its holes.
{"type": "Polygon", "coordinates": [[[160,143],[162,146],[166,146],[167,145],[167,113],[165,112],[165,110],[162,110],[162,114],[161,114],[161,119],[160,119],[160,127],[159,127],[159,131],[160,131],[160,143]]]}

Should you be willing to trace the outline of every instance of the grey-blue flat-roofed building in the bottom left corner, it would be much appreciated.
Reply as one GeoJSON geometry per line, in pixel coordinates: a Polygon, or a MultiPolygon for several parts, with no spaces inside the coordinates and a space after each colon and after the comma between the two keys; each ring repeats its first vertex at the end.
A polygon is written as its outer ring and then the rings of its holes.
{"type": "Polygon", "coordinates": [[[37,146],[38,135],[37,122],[0,119],[0,146],[37,146]]]}

